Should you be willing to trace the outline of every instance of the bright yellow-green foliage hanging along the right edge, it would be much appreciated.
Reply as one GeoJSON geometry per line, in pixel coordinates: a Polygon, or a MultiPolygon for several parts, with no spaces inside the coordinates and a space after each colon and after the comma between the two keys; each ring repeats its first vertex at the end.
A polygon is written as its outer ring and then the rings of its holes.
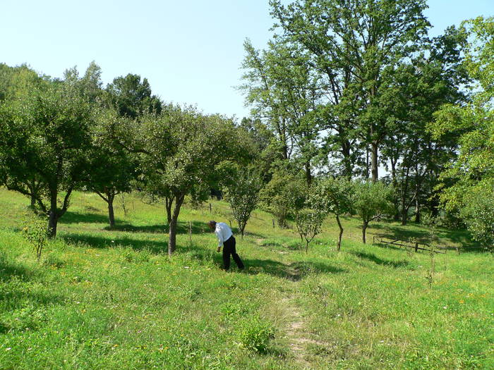
{"type": "Polygon", "coordinates": [[[486,247],[492,245],[488,225],[494,179],[494,18],[476,18],[462,25],[469,36],[464,66],[477,82],[470,104],[446,105],[435,113],[430,125],[441,139],[459,135],[457,161],[440,175],[440,201],[448,211],[457,211],[471,233],[486,247]],[[474,196],[478,195],[478,197],[474,196]]]}

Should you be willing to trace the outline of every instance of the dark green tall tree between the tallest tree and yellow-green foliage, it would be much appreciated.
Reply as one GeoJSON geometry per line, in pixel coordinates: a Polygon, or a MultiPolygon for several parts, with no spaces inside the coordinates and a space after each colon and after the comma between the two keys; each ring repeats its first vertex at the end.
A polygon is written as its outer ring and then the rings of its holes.
{"type": "Polygon", "coordinates": [[[442,104],[465,100],[458,89],[467,82],[460,55],[463,42],[464,32],[450,27],[424,44],[427,53],[383,73],[388,130],[382,161],[399,195],[403,224],[411,206],[420,221],[422,206],[434,197],[438,173],[454,157],[455,140],[433,140],[426,125],[442,104]]]}

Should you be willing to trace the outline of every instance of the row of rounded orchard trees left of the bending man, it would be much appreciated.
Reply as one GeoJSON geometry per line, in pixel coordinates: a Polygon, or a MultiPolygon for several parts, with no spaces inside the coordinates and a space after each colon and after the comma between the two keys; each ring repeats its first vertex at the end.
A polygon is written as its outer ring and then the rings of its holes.
{"type": "Polygon", "coordinates": [[[251,161],[251,140],[229,118],[164,104],[138,75],[105,88],[100,75],[95,63],[62,79],[0,65],[1,184],[30,197],[52,237],[74,190],[100,195],[110,226],[119,193],[163,199],[171,254],[186,195],[206,199],[222,164],[251,161]]]}

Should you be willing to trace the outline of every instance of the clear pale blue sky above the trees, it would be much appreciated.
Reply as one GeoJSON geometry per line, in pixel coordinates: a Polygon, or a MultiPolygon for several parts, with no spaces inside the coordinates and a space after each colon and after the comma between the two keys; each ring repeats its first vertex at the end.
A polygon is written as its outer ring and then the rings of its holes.
{"type": "MultiPolygon", "coordinates": [[[[289,1],[285,1],[289,2],[289,1]]],[[[241,83],[243,40],[270,39],[267,0],[6,0],[0,11],[0,62],[28,63],[61,77],[90,61],[114,77],[146,77],[164,101],[205,113],[248,115],[241,83]]],[[[476,16],[494,16],[494,0],[429,0],[433,35],[476,16]]]]}

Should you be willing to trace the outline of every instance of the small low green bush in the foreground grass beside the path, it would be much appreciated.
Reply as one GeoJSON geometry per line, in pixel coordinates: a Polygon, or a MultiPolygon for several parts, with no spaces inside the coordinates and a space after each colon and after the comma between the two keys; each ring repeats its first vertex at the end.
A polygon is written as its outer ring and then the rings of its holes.
{"type": "Polygon", "coordinates": [[[239,340],[247,350],[265,353],[273,338],[275,338],[275,330],[270,323],[260,319],[259,316],[248,317],[239,324],[239,340]]]}

